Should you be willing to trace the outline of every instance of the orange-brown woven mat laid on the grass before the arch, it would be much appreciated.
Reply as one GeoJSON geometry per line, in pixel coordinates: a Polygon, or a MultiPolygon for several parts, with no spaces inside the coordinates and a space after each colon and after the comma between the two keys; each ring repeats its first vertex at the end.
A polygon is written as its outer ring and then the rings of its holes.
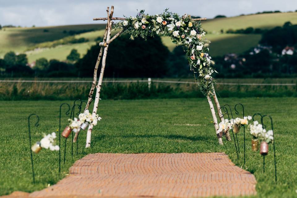
{"type": "Polygon", "coordinates": [[[96,153],[29,197],[243,196],[256,194],[255,186],[225,153],[96,153]]]}

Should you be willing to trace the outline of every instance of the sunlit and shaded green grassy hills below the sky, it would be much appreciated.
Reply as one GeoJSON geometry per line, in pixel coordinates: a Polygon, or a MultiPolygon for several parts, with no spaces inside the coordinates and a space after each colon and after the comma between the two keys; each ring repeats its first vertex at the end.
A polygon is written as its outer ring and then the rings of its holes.
{"type": "MultiPolygon", "coordinates": [[[[209,32],[206,38],[212,43],[210,54],[212,56],[227,53],[242,53],[257,45],[260,34],[221,34],[220,30],[241,29],[247,27],[270,29],[275,26],[282,26],[286,21],[297,24],[297,12],[292,13],[271,13],[258,15],[244,15],[229,18],[209,19],[202,22],[203,28],[209,32]]],[[[96,30],[75,35],[75,38],[87,38],[89,41],[78,44],[60,45],[54,48],[38,49],[26,52],[29,62],[37,58],[65,60],[71,49],[77,49],[81,55],[85,54],[90,46],[95,44],[95,39],[103,36],[105,24],[67,25],[38,28],[5,28],[0,30],[0,57],[8,51],[22,53],[36,44],[47,41],[69,37],[69,31],[96,30]]],[[[173,50],[175,45],[170,38],[162,38],[164,44],[173,50]]]]}

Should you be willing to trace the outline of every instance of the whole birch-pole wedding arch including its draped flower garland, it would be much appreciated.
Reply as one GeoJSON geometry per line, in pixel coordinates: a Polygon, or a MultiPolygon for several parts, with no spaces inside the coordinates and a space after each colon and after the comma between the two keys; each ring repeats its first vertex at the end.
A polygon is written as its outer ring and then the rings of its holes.
{"type": "MultiPolygon", "coordinates": [[[[163,14],[160,15],[146,15],[144,10],[141,10],[136,17],[119,18],[113,17],[114,6],[111,6],[111,10],[107,7],[106,18],[93,18],[93,20],[107,20],[105,27],[105,33],[103,41],[99,43],[101,46],[100,52],[97,58],[97,62],[94,68],[93,83],[88,95],[88,102],[85,109],[88,109],[93,101],[93,93],[96,88],[96,95],[93,107],[93,116],[96,116],[98,110],[98,103],[100,100],[102,80],[105,70],[106,55],[108,47],[114,39],[124,33],[131,34],[131,37],[142,37],[146,39],[148,36],[154,36],[162,34],[164,36],[171,37],[172,41],[177,45],[183,45],[184,50],[187,52],[190,70],[194,73],[195,82],[200,88],[200,91],[207,97],[210,110],[213,116],[213,124],[216,130],[216,135],[219,144],[223,144],[222,136],[226,136],[226,140],[230,141],[229,131],[218,132],[218,122],[215,107],[212,102],[215,103],[220,121],[224,120],[223,114],[220,110],[220,104],[217,99],[217,95],[213,84],[215,83],[211,76],[213,72],[216,72],[212,67],[213,62],[211,57],[207,53],[209,48],[208,41],[203,39],[205,32],[201,28],[200,21],[206,20],[206,18],[192,19],[190,15],[179,16],[175,13],[168,12],[166,9],[163,14]],[[111,37],[112,25],[114,20],[119,20],[114,25],[114,29],[121,29],[113,37],[111,37]],[[197,23],[198,22],[198,23],[197,23]],[[101,62],[102,59],[102,62],[101,62]],[[101,71],[97,83],[97,70],[101,62],[101,71]],[[97,83],[97,85],[96,85],[97,83]]],[[[93,124],[90,124],[87,131],[86,148],[91,145],[91,134],[93,130],[93,124]]],[[[73,141],[77,140],[78,133],[75,134],[73,141]]]]}

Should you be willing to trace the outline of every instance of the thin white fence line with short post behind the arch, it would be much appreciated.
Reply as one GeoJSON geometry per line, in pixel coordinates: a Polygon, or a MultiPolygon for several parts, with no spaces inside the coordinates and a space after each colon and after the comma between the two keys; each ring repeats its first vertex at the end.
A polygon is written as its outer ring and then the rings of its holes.
{"type": "MultiPolygon", "coordinates": [[[[0,82],[14,83],[92,83],[92,80],[0,80],[0,82]]],[[[173,80],[103,80],[104,83],[133,83],[133,82],[157,82],[157,83],[176,83],[176,84],[196,84],[191,81],[173,80]]],[[[296,86],[296,83],[217,83],[219,85],[247,85],[247,86],[296,86]]]]}

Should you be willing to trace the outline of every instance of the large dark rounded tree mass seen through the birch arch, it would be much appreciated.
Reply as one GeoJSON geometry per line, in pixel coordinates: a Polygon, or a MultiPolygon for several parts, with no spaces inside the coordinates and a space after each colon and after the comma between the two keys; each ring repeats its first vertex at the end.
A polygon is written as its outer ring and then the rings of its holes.
{"type": "MultiPolygon", "coordinates": [[[[99,44],[88,50],[76,68],[81,76],[92,76],[100,51],[99,44]]],[[[162,77],[168,71],[169,50],[159,36],[147,41],[130,39],[129,34],[114,40],[108,48],[104,75],[107,77],[162,77]]],[[[100,71],[100,66],[99,66],[100,71]]]]}

